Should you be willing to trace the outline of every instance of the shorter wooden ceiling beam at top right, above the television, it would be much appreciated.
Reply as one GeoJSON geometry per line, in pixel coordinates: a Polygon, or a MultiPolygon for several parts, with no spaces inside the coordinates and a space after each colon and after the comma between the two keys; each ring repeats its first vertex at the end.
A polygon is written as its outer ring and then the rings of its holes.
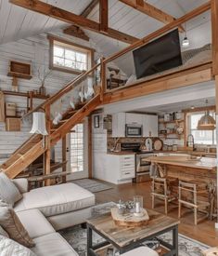
{"type": "MultiPolygon", "coordinates": [[[[119,0],[119,1],[129,7],[133,7],[136,10],[147,14],[149,17],[152,17],[155,20],[159,20],[164,24],[169,24],[174,20],[176,20],[170,14],[167,14],[166,12],[160,10],[159,8],[146,3],[144,0],[119,0]]],[[[179,26],[179,31],[180,32],[185,31],[181,25],[179,26]]]]}

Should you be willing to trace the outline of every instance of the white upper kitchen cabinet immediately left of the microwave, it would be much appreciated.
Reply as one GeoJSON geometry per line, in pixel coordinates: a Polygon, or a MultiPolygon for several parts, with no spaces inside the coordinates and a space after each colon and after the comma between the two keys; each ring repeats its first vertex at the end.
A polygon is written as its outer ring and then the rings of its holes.
{"type": "Polygon", "coordinates": [[[112,115],[112,137],[125,137],[125,113],[112,115]]]}

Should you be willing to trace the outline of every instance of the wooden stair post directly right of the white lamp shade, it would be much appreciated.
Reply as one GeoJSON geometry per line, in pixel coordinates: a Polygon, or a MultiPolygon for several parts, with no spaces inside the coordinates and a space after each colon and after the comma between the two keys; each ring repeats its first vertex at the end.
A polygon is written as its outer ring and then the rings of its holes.
{"type": "MultiPolygon", "coordinates": [[[[50,159],[51,159],[51,144],[50,144],[50,132],[51,132],[51,118],[50,118],[50,105],[45,106],[45,122],[48,135],[45,136],[45,155],[44,155],[44,174],[51,173],[50,159]]],[[[50,185],[50,179],[45,181],[45,186],[50,185]]]]}

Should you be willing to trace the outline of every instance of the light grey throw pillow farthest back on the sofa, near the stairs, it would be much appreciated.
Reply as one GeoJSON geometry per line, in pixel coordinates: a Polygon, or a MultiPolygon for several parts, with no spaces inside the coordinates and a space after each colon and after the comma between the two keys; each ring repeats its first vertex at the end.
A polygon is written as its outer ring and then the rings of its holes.
{"type": "Polygon", "coordinates": [[[0,173],[0,199],[9,205],[14,205],[22,195],[16,185],[6,176],[4,172],[0,173]]]}

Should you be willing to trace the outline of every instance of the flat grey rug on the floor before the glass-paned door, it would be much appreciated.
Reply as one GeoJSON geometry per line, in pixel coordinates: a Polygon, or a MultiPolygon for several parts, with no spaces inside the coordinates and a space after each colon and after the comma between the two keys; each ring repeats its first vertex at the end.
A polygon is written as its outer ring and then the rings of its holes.
{"type": "Polygon", "coordinates": [[[73,181],[73,183],[87,189],[92,193],[96,193],[96,192],[100,192],[100,191],[104,191],[112,188],[108,184],[91,180],[91,179],[76,180],[76,181],[73,181]]]}

